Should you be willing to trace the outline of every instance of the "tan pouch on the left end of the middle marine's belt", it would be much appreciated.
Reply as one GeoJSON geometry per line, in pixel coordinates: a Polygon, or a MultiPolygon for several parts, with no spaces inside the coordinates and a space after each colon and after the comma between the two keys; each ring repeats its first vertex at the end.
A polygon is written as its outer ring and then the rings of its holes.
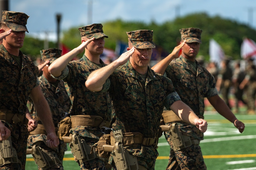
{"type": "Polygon", "coordinates": [[[71,129],[71,118],[65,117],[62,121],[58,123],[59,131],[58,137],[60,140],[63,140],[64,136],[69,136],[69,130],[71,129]]]}

